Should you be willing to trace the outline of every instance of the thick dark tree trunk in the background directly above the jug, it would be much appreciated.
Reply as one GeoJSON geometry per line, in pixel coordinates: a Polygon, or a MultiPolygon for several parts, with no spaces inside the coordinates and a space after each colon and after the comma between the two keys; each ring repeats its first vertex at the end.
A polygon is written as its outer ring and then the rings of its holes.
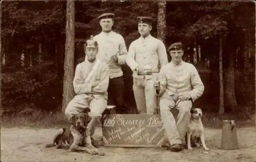
{"type": "Polygon", "coordinates": [[[236,46],[231,40],[232,37],[227,39],[227,50],[228,57],[226,59],[227,68],[225,71],[224,79],[225,79],[225,105],[230,108],[232,112],[234,112],[237,106],[236,94],[234,91],[234,70],[235,70],[235,51],[236,46]]]}

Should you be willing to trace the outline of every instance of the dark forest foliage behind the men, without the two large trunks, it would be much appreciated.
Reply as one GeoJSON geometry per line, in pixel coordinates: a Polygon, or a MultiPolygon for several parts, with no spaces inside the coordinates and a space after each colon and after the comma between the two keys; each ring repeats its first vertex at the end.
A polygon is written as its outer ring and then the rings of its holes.
{"type": "MultiPolygon", "coordinates": [[[[126,47],[139,37],[137,16],[155,18],[152,35],[157,34],[157,2],[75,2],[75,37],[87,39],[100,32],[97,16],[103,12],[116,14],[114,30],[123,35],[126,47]]],[[[3,1],[2,51],[6,54],[6,66],[2,68],[2,107],[20,111],[24,107],[57,110],[62,99],[63,56],[66,26],[65,1],[3,1]],[[32,67],[20,67],[20,54],[38,55],[42,44],[44,64],[33,62],[32,67]]],[[[238,53],[226,50],[224,65],[230,56],[236,59],[235,91],[239,105],[255,105],[255,4],[253,2],[167,2],[167,33],[165,46],[182,41],[185,58],[191,56],[195,44],[201,45],[201,58],[195,64],[205,84],[204,95],[195,103],[203,109],[218,111],[218,48],[217,35],[232,32],[238,53]],[[205,59],[210,68],[204,68],[205,59]],[[203,66],[200,66],[203,64],[203,66]],[[242,75],[244,74],[244,75],[242,75]],[[207,106],[205,106],[207,105],[207,106]]],[[[80,41],[82,42],[82,41],[80,41]]],[[[227,42],[227,46],[231,45],[227,42]]],[[[82,43],[76,41],[75,61],[83,56],[82,43]]],[[[188,59],[186,59],[188,60],[188,59]]],[[[190,57],[191,60],[191,57],[190,57]]],[[[132,101],[131,70],[122,67],[126,83],[125,97],[132,101]]],[[[129,102],[130,103],[130,102],[129,102]]],[[[132,105],[131,105],[132,106],[132,105]]],[[[134,105],[133,105],[134,106],[134,105]]],[[[238,108],[238,110],[240,110],[238,108]]]]}

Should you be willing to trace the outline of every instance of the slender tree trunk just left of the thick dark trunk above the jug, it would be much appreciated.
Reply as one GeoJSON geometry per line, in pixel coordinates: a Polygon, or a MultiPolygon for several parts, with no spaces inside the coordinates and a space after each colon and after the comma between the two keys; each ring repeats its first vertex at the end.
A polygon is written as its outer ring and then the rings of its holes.
{"type": "Polygon", "coordinates": [[[223,87],[223,68],[222,68],[222,38],[220,36],[220,49],[219,49],[219,77],[220,77],[220,105],[219,114],[224,114],[224,87],[223,87]]]}

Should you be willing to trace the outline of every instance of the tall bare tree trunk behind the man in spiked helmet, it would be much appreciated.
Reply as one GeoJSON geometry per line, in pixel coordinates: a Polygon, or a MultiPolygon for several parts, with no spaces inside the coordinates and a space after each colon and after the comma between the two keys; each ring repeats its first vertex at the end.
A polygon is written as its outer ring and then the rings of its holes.
{"type": "Polygon", "coordinates": [[[75,2],[67,1],[66,44],[63,77],[62,112],[74,97],[75,2]]]}

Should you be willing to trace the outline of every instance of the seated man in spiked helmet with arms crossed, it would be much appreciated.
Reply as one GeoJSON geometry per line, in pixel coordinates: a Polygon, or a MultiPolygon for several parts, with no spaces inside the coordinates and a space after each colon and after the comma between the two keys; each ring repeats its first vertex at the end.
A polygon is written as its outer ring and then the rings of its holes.
{"type": "Polygon", "coordinates": [[[108,102],[109,67],[108,64],[96,59],[98,43],[93,40],[92,36],[84,45],[84,51],[86,58],[76,66],[73,81],[76,96],[68,104],[65,115],[71,121],[74,114],[83,112],[89,107],[92,120],[88,124],[88,129],[90,130],[92,145],[97,147],[92,136],[95,124],[108,102]]]}

